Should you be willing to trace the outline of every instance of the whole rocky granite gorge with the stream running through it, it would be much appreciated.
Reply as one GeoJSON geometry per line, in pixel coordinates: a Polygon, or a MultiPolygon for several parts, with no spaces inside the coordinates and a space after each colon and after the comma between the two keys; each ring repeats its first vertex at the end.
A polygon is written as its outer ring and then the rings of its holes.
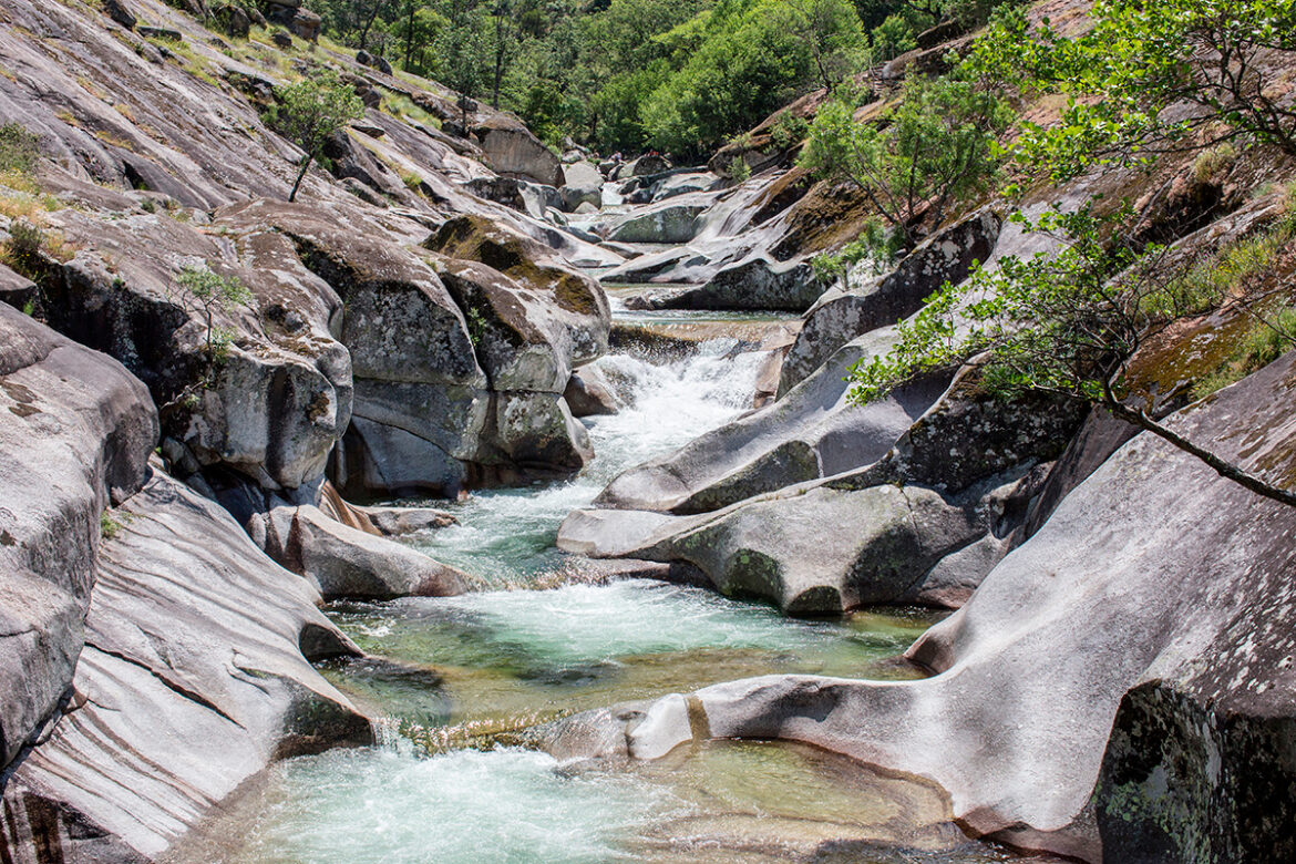
{"type": "MultiPolygon", "coordinates": [[[[978,359],[851,398],[1055,238],[981,199],[827,280],[868,202],[761,128],[559,154],[301,3],[220,9],[0,0],[39,141],[0,177],[0,860],[1296,856],[1291,508],[978,359]],[[289,203],[264,109],[320,67],[365,113],[289,203]]],[[[1021,207],[1174,198],[1217,254],[1290,168],[1021,207]]],[[[1291,354],[1194,395],[1247,321],[1130,377],[1290,486],[1291,354]]]]}

